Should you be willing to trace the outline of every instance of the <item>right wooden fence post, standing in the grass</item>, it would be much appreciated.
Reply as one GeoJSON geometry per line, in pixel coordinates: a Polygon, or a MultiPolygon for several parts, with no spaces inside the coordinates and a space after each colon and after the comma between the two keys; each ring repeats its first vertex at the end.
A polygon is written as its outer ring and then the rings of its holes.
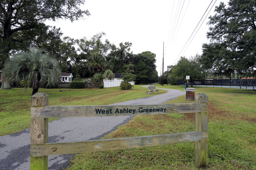
{"type": "Polygon", "coordinates": [[[198,93],[195,96],[196,103],[202,103],[203,111],[195,113],[195,131],[203,133],[203,140],[195,142],[195,163],[200,167],[207,166],[208,159],[208,95],[198,93]]]}

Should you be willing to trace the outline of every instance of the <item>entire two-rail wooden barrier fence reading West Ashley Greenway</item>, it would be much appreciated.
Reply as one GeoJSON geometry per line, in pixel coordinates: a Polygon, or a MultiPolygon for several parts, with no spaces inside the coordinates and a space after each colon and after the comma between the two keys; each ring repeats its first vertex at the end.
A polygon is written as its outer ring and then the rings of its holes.
{"type": "Polygon", "coordinates": [[[48,155],[75,154],[165,144],[195,142],[195,163],[207,166],[208,148],[208,96],[198,93],[195,103],[128,105],[128,106],[48,106],[48,95],[36,93],[31,97],[30,168],[48,170],[48,155]],[[104,117],[124,115],[153,115],[169,113],[195,113],[195,131],[101,139],[91,141],[48,143],[48,118],[104,117]]]}

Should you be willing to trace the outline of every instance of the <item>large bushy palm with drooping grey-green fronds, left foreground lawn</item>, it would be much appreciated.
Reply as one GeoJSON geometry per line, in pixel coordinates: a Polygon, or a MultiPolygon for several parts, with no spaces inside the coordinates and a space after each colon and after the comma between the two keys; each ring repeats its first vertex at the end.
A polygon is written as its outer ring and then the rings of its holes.
{"type": "Polygon", "coordinates": [[[47,86],[53,85],[60,79],[61,69],[56,59],[50,57],[43,49],[34,47],[21,51],[6,62],[3,77],[6,82],[20,82],[24,77],[25,87],[31,86],[32,95],[37,93],[39,83],[48,80],[47,86]]]}

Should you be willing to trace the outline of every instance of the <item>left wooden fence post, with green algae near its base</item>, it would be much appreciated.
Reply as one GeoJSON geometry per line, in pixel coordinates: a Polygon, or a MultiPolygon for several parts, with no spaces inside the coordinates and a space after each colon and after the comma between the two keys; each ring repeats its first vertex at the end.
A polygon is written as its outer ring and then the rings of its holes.
{"type": "MultiPolygon", "coordinates": [[[[49,96],[46,93],[35,93],[31,96],[31,106],[48,106],[49,96]]],[[[35,113],[36,114],[36,113],[35,113]]],[[[30,145],[48,143],[48,118],[31,119],[30,145]]],[[[40,153],[40,147],[38,153],[40,153]]],[[[48,170],[48,156],[30,157],[31,170],[48,170]]]]}

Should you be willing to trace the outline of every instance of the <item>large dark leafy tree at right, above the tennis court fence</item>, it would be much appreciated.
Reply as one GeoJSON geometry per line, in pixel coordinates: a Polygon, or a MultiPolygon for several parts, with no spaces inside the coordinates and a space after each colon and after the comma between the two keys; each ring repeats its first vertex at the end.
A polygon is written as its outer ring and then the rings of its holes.
{"type": "Polygon", "coordinates": [[[202,46],[204,68],[215,75],[256,76],[256,2],[230,0],[228,6],[221,2],[215,12],[208,22],[210,43],[202,46]]]}

